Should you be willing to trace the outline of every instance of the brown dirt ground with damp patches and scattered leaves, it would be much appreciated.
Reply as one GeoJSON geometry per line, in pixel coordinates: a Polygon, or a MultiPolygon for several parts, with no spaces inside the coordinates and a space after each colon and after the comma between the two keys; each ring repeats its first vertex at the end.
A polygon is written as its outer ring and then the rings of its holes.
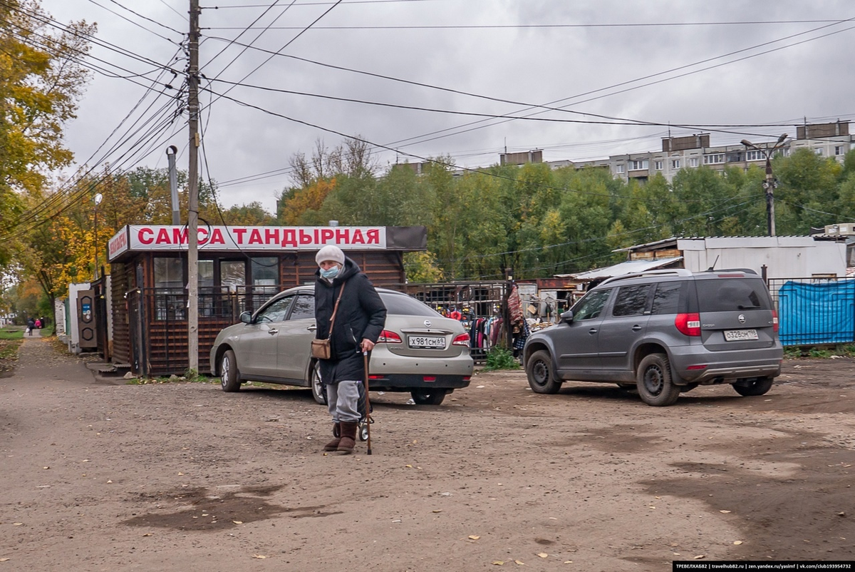
{"type": "Polygon", "coordinates": [[[652,408],[479,373],[372,393],[372,455],[324,455],[309,390],[129,385],[27,339],[0,378],[3,570],[670,570],[855,560],[855,361],[652,408]]]}

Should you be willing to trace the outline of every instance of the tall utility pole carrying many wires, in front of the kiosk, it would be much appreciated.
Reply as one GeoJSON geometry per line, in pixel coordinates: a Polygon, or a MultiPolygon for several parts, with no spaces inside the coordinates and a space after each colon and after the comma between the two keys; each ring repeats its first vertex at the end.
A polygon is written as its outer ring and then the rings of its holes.
{"type": "Polygon", "coordinates": [[[187,173],[187,368],[199,370],[199,0],[190,0],[190,63],[187,68],[187,110],[190,153],[187,173]]]}

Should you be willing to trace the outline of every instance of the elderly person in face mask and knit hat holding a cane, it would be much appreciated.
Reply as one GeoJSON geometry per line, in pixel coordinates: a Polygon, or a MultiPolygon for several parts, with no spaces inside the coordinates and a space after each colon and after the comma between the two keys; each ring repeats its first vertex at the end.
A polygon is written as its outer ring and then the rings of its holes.
{"type": "Polygon", "coordinates": [[[341,248],[322,247],[315,261],[315,338],[329,340],[329,356],[318,363],[333,418],[333,440],[324,450],[348,455],[359,427],[363,353],[374,349],[383,331],[386,306],[369,277],[341,248]]]}

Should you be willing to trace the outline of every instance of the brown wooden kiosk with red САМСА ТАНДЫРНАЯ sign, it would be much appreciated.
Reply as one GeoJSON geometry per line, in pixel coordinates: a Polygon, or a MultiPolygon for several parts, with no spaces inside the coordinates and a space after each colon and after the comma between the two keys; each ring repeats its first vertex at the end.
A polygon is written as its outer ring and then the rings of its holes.
{"type": "MultiPolygon", "coordinates": [[[[407,227],[209,226],[198,229],[198,362],[216,335],[283,289],[314,283],[315,253],[334,244],[375,286],[404,290],[403,253],[426,250],[407,227]]],[[[187,228],[135,224],[108,243],[115,365],[141,376],[182,374],[187,355],[187,228]]]]}

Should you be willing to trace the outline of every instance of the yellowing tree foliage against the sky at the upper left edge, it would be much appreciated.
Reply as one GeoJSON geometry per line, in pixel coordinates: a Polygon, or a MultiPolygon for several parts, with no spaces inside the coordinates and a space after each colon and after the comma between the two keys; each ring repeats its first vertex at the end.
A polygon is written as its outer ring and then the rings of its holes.
{"type": "Polygon", "coordinates": [[[79,62],[96,28],[80,21],[57,30],[36,0],[0,3],[0,264],[32,222],[25,197],[40,199],[46,173],[72,160],[62,126],[89,78],[79,62]]]}

